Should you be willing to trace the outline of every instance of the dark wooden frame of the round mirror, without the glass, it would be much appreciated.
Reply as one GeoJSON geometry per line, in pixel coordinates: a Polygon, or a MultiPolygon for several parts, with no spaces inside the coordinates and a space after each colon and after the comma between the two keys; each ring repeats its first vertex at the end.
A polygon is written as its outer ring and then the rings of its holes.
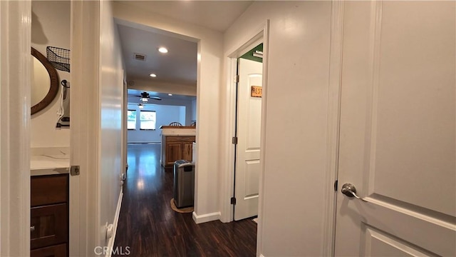
{"type": "Polygon", "coordinates": [[[31,48],[31,55],[34,56],[38,61],[43,64],[44,68],[48,71],[49,74],[49,79],[51,80],[51,85],[49,86],[49,91],[46,96],[38,103],[35,104],[34,106],[31,106],[31,114],[36,114],[38,111],[41,111],[45,109],[49,104],[52,103],[53,99],[56,98],[57,93],[58,93],[58,74],[56,68],[54,68],[51,64],[51,62],[46,59],[43,54],[41,54],[39,51],[34,49],[33,47],[31,48]]]}

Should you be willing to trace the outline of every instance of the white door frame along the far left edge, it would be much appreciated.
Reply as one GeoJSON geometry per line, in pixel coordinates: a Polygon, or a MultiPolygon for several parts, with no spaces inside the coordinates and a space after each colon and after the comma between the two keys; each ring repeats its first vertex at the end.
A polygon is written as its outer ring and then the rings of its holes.
{"type": "Polygon", "coordinates": [[[31,1],[0,1],[0,256],[30,255],[31,1]]]}

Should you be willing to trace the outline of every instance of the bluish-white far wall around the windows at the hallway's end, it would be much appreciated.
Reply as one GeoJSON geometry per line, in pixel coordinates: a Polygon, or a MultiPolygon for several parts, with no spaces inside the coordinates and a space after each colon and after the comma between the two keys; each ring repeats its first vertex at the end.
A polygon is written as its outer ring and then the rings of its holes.
{"type": "Polygon", "coordinates": [[[169,106],[162,104],[147,104],[139,109],[138,104],[128,104],[128,110],[136,111],[136,129],[128,130],[128,143],[160,143],[162,141],[162,130],[160,126],[167,126],[171,122],[185,124],[185,106],[169,106]],[[155,111],[155,130],[140,130],[140,111],[155,111]]]}

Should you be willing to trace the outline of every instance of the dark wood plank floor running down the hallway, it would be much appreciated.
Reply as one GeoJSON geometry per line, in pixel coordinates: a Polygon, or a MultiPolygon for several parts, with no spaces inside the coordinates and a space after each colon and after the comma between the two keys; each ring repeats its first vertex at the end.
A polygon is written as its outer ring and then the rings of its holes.
{"type": "Polygon", "coordinates": [[[159,144],[129,145],[128,165],[114,247],[130,256],[256,255],[254,221],[195,224],[192,213],[172,211],[173,175],[160,168],[159,144]]]}

